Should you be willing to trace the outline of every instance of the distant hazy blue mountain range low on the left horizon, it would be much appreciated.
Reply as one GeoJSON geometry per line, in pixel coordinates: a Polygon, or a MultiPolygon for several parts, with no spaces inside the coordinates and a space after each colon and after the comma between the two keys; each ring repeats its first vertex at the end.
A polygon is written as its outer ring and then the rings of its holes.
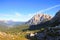
{"type": "Polygon", "coordinates": [[[14,22],[14,21],[0,21],[0,26],[13,27],[17,25],[22,25],[24,22],[14,22]]]}

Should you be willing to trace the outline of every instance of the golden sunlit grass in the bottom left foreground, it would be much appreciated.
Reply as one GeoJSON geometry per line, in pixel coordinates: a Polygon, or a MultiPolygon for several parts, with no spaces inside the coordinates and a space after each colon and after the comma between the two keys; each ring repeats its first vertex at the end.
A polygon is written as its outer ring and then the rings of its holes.
{"type": "Polygon", "coordinates": [[[0,40],[27,40],[25,38],[25,32],[20,32],[16,34],[10,34],[5,32],[0,32],[0,40]]]}

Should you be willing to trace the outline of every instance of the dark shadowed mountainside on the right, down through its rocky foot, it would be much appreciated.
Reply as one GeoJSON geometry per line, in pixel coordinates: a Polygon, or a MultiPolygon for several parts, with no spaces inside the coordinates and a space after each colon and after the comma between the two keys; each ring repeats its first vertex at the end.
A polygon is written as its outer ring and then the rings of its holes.
{"type": "MultiPolygon", "coordinates": [[[[30,36],[36,40],[60,40],[60,10],[49,21],[42,24],[32,25],[31,29],[40,31],[30,36]],[[41,28],[44,28],[43,30],[41,28]]],[[[31,35],[31,34],[30,34],[31,35]]]]}

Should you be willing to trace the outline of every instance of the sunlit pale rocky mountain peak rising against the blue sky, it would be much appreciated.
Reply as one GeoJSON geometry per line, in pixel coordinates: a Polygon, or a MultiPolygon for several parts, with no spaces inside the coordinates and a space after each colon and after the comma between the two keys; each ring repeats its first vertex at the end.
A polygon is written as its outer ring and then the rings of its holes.
{"type": "Polygon", "coordinates": [[[50,15],[36,14],[27,22],[27,24],[36,25],[51,20],[51,18],[50,15]]]}

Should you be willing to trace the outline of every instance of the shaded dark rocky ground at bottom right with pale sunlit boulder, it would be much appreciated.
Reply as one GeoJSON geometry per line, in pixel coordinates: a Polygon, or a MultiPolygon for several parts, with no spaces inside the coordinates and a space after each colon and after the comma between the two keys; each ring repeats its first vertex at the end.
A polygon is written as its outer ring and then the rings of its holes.
{"type": "Polygon", "coordinates": [[[60,26],[49,27],[41,32],[30,34],[31,40],[60,40],[60,26]]]}

